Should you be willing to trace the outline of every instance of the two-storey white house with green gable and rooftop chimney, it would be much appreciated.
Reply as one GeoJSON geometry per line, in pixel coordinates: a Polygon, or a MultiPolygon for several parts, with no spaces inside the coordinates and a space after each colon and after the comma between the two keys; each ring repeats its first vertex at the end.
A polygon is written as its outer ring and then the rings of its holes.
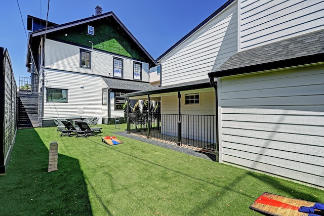
{"type": "MultiPolygon", "coordinates": [[[[26,66],[39,93],[39,126],[53,119],[123,117],[126,93],[149,90],[154,59],[113,12],[64,24],[28,16],[26,66]]],[[[35,88],[35,85],[36,88],[35,88]]]]}

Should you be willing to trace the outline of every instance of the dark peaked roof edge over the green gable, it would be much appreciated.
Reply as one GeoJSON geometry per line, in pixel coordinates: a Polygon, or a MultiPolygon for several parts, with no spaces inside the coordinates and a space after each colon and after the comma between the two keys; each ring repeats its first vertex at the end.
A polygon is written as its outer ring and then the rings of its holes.
{"type": "MultiPolygon", "coordinates": [[[[96,21],[96,20],[104,19],[104,18],[107,18],[107,17],[113,18],[120,25],[120,27],[123,28],[125,30],[125,32],[131,37],[131,39],[135,42],[135,44],[137,46],[139,46],[139,48],[151,60],[151,62],[155,63],[155,60],[151,57],[151,55],[145,50],[145,48],[140,44],[140,42],[134,37],[134,35],[126,28],[126,26],[118,19],[118,17],[112,11],[108,12],[108,13],[88,17],[88,18],[85,18],[85,19],[76,20],[76,21],[73,21],[73,22],[68,22],[68,23],[55,25],[55,26],[50,26],[50,27],[47,28],[46,32],[45,32],[45,28],[33,31],[33,32],[31,32],[29,34],[28,41],[30,43],[32,37],[41,36],[41,35],[43,35],[45,33],[51,33],[51,32],[55,32],[55,31],[63,30],[63,29],[66,29],[66,28],[70,28],[70,27],[80,25],[80,24],[85,24],[85,23],[96,21]]],[[[28,52],[29,52],[29,50],[28,50],[28,52]]]]}

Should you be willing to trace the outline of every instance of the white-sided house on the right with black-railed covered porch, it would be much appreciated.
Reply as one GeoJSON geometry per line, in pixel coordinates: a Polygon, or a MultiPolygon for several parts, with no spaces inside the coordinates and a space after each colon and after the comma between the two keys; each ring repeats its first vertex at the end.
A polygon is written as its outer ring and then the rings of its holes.
{"type": "Polygon", "coordinates": [[[229,0],[157,58],[160,87],[125,97],[159,98],[161,115],[177,116],[158,119],[159,132],[179,145],[208,140],[219,162],[322,188],[323,10],[324,1],[229,0]],[[214,115],[213,135],[205,117],[184,115],[214,115]]]}

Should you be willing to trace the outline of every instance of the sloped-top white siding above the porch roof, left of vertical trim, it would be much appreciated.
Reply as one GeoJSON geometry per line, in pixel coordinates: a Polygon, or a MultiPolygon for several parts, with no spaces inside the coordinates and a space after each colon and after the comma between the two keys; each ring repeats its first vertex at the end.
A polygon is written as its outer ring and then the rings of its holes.
{"type": "Polygon", "coordinates": [[[208,78],[237,52],[237,2],[186,38],[161,59],[162,85],[208,78]]]}

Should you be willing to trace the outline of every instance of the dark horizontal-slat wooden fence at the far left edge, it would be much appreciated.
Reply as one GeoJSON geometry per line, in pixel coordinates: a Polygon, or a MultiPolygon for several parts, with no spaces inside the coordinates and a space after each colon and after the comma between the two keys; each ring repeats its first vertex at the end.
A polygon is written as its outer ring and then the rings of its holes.
{"type": "Polygon", "coordinates": [[[17,132],[17,84],[8,50],[0,47],[0,174],[5,174],[17,132]]]}

